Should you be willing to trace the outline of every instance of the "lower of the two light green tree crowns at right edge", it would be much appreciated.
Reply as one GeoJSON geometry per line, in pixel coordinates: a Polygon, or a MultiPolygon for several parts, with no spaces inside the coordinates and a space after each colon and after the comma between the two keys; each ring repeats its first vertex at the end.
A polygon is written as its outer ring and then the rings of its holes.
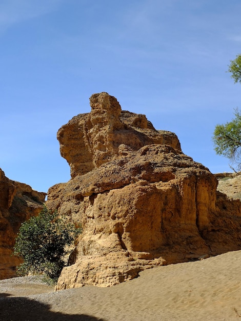
{"type": "Polygon", "coordinates": [[[241,114],[238,109],[234,112],[235,118],[224,125],[216,125],[213,142],[218,155],[224,155],[241,168],[241,114]]]}

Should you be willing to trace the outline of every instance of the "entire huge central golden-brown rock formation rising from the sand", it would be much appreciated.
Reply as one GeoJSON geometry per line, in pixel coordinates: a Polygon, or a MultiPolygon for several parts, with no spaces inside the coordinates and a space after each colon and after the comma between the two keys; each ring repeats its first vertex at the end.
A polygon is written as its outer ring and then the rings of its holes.
{"type": "Polygon", "coordinates": [[[121,111],[107,93],[90,105],[57,134],[72,178],[49,189],[47,206],[83,233],[56,289],[111,286],[241,248],[239,200],[217,194],[214,175],[183,154],[175,134],[121,111]]]}

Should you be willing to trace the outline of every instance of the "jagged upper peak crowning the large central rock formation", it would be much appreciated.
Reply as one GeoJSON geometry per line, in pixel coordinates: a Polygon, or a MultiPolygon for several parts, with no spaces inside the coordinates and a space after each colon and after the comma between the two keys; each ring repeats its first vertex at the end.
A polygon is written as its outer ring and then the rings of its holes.
{"type": "Polygon", "coordinates": [[[90,113],[73,117],[57,133],[72,178],[122,156],[124,147],[136,151],[145,145],[167,144],[180,150],[174,133],[155,130],[145,115],[122,111],[117,99],[106,92],[93,94],[90,106],[90,113]]]}

